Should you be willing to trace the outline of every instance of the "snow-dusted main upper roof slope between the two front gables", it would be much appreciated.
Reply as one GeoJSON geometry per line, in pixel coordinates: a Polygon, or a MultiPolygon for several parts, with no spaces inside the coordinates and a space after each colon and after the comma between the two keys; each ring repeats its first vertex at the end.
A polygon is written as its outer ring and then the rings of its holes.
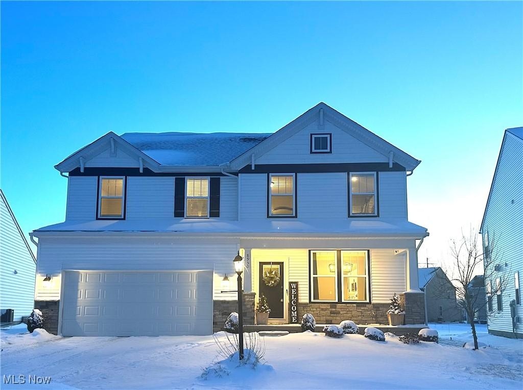
{"type": "Polygon", "coordinates": [[[259,133],[125,133],[121,138],[165,166],[218,166],[259,144],[259,133]]]}

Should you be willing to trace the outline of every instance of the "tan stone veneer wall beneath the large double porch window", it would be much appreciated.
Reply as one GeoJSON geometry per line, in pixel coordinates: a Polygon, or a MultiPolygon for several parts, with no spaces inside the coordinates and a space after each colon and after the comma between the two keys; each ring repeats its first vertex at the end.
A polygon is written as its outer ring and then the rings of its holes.
{"type": "Polygon", "coordinates": [[[339,324],[344,320],[356,324],[388,324],[388,303],[298,303],[298,320],[311,313],[316,324],[339,324]]]}

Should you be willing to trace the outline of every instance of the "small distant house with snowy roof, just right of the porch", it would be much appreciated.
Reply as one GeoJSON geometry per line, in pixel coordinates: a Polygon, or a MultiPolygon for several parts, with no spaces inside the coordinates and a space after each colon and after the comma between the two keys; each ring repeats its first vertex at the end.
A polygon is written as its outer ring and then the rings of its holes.
{"type": "Polygon", "coordinates": [[[425,292],[427,321],[461,321],[456,289],[440,267],[418,268],[419,288],[425,292]]]}

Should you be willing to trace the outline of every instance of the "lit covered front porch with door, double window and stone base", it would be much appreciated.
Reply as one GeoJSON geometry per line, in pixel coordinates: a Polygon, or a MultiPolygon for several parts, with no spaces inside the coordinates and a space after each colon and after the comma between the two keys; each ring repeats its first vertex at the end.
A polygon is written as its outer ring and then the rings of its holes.
{"type": "Polygon", "coordinates": [[[269,325],[299,324],[312,313],[317,324],[351,320],[387,324],[398,294],[405,324],[424,324],[415,239],[242,239],[244,290],[271,309],[269,325]]]}

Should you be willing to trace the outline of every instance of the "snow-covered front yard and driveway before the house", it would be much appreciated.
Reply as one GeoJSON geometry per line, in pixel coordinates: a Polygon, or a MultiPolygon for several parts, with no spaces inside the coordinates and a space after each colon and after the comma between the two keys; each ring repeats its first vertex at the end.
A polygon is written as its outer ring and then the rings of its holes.
{"type": "MultiPolygon", "coordinates": [[[[491,336],[479,325],[478,351],[465,324],[433,324],[440,344],[405,345],[361,335],[329,338],[321,333],[265,337],[266,363],[236,368],[223,358],[211,336],[71,337],[2,329],[4,375],[25,375],[26,384],[2,388],[373,388],[521,389],[523,340],[491,336]],[[223,375],[200,378],[207,367],[223,375]],[[229,372],[229,374],[227,374],[229,372]],[[29,375],[50,376],[50,385],[29,385],[29,375]]],[[[218,334],[224,338],[224,334],[218,334]]],[[[213,371],[214,372],[214,371],[213,371]]]]}

